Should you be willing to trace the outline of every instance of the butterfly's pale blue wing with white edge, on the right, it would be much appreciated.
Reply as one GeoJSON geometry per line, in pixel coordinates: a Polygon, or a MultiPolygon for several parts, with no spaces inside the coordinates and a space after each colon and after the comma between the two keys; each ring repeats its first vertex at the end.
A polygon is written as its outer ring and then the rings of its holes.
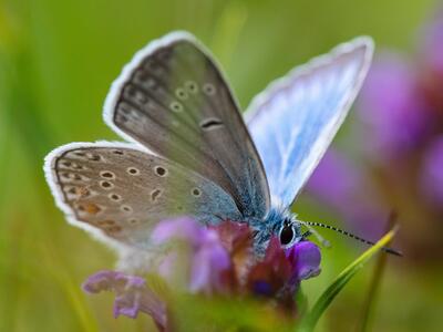
{"type": "Polygon", "coordinates": [[[373,52],[370,38],[341,44],[296,68],[254,98],[246,113],[274,206],[289,207],[356,98],[373,52]]]}

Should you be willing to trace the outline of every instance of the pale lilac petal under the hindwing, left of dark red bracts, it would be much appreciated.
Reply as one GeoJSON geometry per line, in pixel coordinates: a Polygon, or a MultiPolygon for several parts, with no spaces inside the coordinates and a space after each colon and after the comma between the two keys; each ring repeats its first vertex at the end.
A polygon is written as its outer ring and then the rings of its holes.
{"type": "Polygon", "coordinates": [[[202,227],[194,219],[184,217],[159,222],[152,234],[152,239],[157,245],[175,240],[189,246],[192,250],[189,291],[208,294],[226,291],[229,287],[227,274],[230,269],[230,258],[216,230],[202,227]]]}

